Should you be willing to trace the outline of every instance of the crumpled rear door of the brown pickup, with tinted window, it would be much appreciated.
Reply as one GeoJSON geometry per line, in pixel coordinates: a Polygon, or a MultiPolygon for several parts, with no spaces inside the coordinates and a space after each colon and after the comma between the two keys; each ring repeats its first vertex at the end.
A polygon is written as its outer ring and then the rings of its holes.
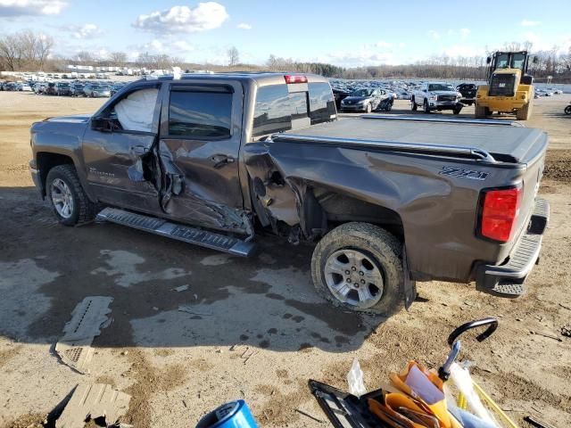
{"type": "Polygon", "coordinates": [[[200,78],[168,85],[158,145],[161,209],[194,225],[245,233],[249,220],[238,177],[242,85],[200,78]]]}

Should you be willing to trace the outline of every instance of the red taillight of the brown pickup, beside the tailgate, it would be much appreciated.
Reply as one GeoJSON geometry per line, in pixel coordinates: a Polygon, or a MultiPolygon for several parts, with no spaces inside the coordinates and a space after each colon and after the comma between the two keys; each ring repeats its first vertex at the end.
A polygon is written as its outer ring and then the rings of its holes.
{"type": "Polygon", "coordinates": [[[522,188],[484,191],[480,233],[486,238],[507,243],[514,231],[522,188]]]}

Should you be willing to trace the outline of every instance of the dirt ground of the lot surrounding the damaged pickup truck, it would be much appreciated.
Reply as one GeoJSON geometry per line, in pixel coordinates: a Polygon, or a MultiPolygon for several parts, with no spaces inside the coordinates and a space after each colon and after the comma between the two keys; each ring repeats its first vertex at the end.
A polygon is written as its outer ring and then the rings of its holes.
{"type": "MultiPolygon", "coordinates": [[[[59,226],[29,178],[29,125],[95,111],[103,100],[1,92],[0,426],[42,421],[76,384],[94,381],[133,396],[126,422],[137,428],[194,426],[239,398],[262,426],[323,426],[296,411],[325,418],[308,379],[345,389],[352,358],[359,358],[368,389],[376,389],[410,358],[439,366],[451,329],[486,316],[500,317],[498,332],[482,344],[464,341],[477,381],[520,423],[534,415],[571,426],[571,338],[559,333],[571,321],[567,99],[537,100],[528,123],[550,134],[541,193],[551,221],[525,297],[419,284],[410,311],[385,321],[319,300],[310,247],[263,240],[257,258],[236,259],[120,226],[59,226]],[[187,291],[172,291],[182,284],[187,291]],[[77,374],[58,361],[53,345],[70,311],[94,295],[114,298],[113,322],[95,340],[91,374],[77,374]]],[[[397,102],[394,112],[407,109],[397,102]]]]}

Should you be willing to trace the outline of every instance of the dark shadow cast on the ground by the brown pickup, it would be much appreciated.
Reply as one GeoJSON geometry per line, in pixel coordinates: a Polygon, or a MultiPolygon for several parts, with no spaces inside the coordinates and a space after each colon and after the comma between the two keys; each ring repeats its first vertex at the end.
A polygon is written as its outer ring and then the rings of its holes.
{"type": "Polygon", "coordinates": [[[0,198],[0,333],[19,342],[54,342],[95,295],[114,299],[112,325],[95,340],[102,347],[342,352],[382,322],[316,295],[310,246],[262,237],[259,255],[241,259],[122,226],[60,226],[33,188],[2,188],[0,198]]]}

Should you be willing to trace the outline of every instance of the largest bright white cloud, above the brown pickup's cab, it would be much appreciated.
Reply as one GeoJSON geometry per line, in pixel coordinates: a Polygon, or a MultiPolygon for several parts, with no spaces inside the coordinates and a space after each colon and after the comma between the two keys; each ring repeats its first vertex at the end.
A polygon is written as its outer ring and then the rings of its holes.
{"type": "Polygon", "coordinates": [[[207,2],[199,3],[194,9],[172,6],[164,11],[139,15],[133,27],[157,34],[194,33],[218,29],[226,20],[228,12],[222,4],[207,2]]]}

